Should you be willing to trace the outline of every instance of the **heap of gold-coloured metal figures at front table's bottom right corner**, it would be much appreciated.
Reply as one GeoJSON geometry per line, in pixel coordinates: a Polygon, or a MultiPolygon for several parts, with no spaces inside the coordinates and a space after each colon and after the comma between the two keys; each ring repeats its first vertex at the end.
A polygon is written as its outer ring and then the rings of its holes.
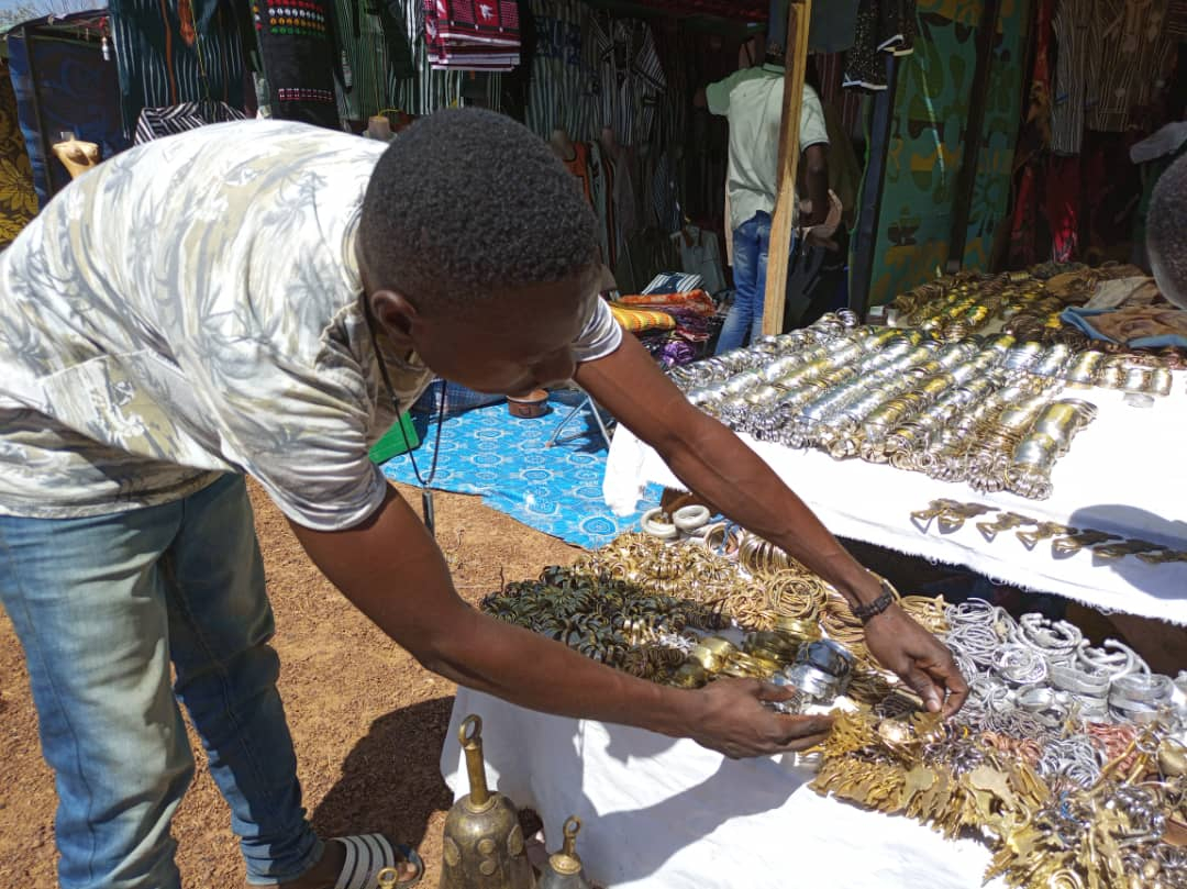
{"type": "Polygon", "coordinates": [[[934,716],[839,715],[812,782],[946,837],[975,831],[994,849],[985,880],[1049,889],[1183,889],[1185,748],[1160,718],[1086,786],[1045,780],[1024,758],[934,716]]]}

